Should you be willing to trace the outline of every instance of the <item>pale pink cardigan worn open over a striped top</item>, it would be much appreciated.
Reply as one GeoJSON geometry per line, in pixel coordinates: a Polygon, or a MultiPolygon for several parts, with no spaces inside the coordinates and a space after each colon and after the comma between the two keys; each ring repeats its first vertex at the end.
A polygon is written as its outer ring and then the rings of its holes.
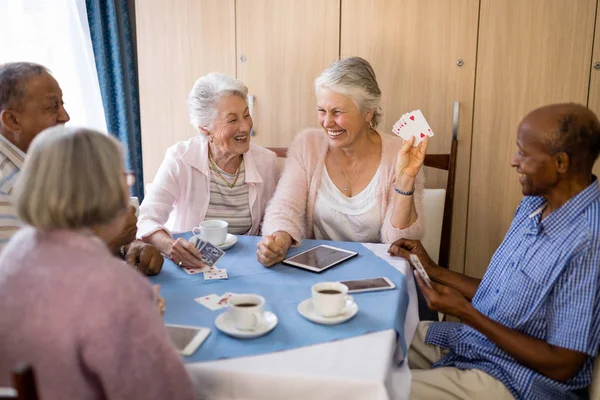
{"type": "MultiPolygon", "coordinates": [[[[279,166],[277,155],[264,147],[250,144],[244,154],[252,227],[258,235],[267,202],[273,196],[279,166]]],[[[187,232],[204,220],[210,200],[208,142],[199,137],[179,142],[167,150],[154,182],[148,185],[140,206],[138,238],[158,230],[187,232]]]]}

